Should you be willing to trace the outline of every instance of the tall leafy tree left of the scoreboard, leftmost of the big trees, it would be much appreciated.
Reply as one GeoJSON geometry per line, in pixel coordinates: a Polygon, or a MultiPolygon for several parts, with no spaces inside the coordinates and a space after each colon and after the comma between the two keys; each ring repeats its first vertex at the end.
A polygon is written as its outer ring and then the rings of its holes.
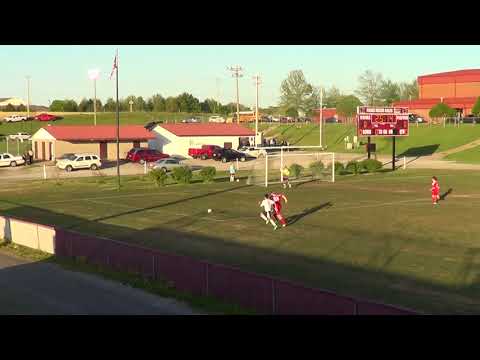
{"type": "Polygon", "coordinates": [[[314,87],[305,80],[302,70],[293,70],[280,86],[280,106],[294,108],[304,113],[313,109],[318,102],[314,87]]]}

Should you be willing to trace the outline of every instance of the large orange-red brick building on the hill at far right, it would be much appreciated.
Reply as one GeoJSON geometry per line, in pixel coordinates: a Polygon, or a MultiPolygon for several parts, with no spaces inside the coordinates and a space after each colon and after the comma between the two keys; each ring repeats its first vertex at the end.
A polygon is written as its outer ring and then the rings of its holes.
{"type": "Polygon", "coordinates": [[[467,116],[480,96],[480,69],[422,75],[417,78],[417,83],[418,100],[398,101],[393,106],[408,106],[411,113],[429,120],[430,109],[444,102],[461,116],[467,116]]]}

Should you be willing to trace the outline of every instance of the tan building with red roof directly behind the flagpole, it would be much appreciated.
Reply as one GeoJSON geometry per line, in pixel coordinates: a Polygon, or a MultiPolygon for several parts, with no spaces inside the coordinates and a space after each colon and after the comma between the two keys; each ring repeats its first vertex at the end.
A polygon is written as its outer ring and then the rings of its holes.
{"type": "MultiPolygon", "coordinates": [[[[141,125],[120,126],[120,158],[132,147],[148,147],[155,134],[141,125]]],[[[66,153],[90,153],[106,160],[117,157],[115,125],[45,126],[32,136],[34,158],[55,160],[66,153]]]]}

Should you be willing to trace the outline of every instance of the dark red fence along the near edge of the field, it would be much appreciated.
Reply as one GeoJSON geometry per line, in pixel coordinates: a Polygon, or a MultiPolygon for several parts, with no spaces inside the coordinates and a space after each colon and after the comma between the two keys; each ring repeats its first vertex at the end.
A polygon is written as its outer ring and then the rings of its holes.
{"type": "Polygon", "coordinates": [[[412,315],[410,310],[360,301],[224,265],[197,261],[115,240],[56,229],[55,254],[84,257],[108,266],[172,283],[181,291],[210,295],[261,314],[412,315]]]}

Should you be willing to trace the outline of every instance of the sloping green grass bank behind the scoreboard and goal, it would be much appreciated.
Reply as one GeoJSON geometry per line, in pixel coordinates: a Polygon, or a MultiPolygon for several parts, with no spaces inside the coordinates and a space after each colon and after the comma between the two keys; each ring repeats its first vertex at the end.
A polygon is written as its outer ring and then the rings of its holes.
{"type": "MultiPolygon", "coordinates": [[[[325,124],[325,139],[328,149],[334,152],[365,152],[362,146],[356,150],[345,150],[343,139],[350,136],[350,141],[355,135],[356,128],[353,125],[325,124]]],[[[275,136],[290,141],[292,145],[318,145],[318,125],[279,125],[268,131],[267,136],[275,136]]],[[[457,146],[467,144],[480,137],[480,126],[460,127],[454,126],[410,126],[408,137],[396,138],[396,152],[399,156],[431,155],[457,146]]],[[[361,138],[361,141],[367,141],[361,138]]],[[[372,142],[377,144],[377,153],[391,154],[392,140],[388,137],[372,137],[372,142]]],[[[478,160],[480,161],[480,157],[478,160]]]]}

